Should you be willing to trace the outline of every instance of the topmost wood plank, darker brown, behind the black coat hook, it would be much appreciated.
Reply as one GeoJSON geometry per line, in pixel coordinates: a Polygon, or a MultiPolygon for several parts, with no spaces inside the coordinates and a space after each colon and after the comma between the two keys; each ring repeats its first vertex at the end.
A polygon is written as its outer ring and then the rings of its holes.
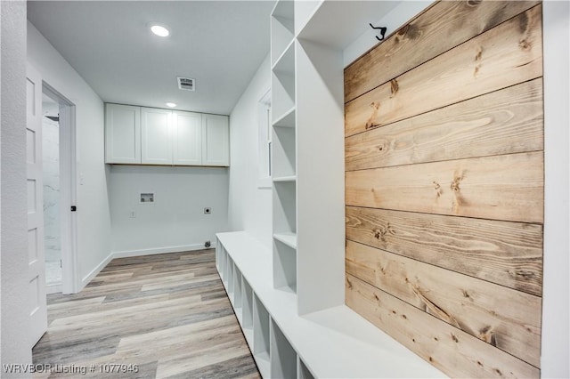
{"type": "Polygon", "coordinates": [[[345,69],[345,102],[538,3],[442,1],[434,4],[345,69]]]}

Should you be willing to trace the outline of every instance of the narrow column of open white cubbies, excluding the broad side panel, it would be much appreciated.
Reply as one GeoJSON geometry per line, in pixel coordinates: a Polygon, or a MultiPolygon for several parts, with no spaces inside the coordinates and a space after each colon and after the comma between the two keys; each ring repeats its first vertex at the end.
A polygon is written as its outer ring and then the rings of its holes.
{"type": "MultiPolygon", "coordinates": [[[[297,107],[295,101],[294,2],[281,1],[275,5],[271,17],[271,33],[273,286],[281,291],[297,294],[297,107]]],[[[275,333],[273,330],[272,335],[275,333]]],[[[279,361],[277,364],[281,365],[279,361]]],[[[272,370],[272,377],[273,375],[276,373],[272,370]]]]}

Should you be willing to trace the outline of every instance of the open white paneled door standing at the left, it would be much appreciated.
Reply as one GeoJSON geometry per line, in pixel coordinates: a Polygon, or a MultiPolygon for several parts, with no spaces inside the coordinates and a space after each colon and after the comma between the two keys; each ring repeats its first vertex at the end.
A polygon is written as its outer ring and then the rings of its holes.
{"type": "Polygon", "coordinates": [[[45,299],[44,198],[42,194],[42,77],[29,65],[26,95],[29,343],[32,347],[47,330],[47,305],[45,299]]]}

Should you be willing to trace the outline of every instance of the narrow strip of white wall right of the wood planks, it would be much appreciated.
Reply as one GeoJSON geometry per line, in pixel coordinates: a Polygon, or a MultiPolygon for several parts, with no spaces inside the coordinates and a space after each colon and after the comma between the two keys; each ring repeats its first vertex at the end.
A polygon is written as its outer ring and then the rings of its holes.
{"type": "Polygon", "coordinates": [[[542,377],[570,377],[570,4],[542,4],[544,52],[544,269],[542,377]]]}

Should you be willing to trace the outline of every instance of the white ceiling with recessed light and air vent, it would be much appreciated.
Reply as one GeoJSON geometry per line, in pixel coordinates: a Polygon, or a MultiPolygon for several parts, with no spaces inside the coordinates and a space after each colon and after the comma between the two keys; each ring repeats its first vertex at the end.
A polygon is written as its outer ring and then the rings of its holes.
{"type": "Polygon", "coordinates": [[[269,52],[267,1],[28,1],[28,20],[103,101],[227,115],[269,52]],[[151,21],[171,35],[154,36],[151,21]],[[196,92],[176,77],[196,79],[196,92]]]}

